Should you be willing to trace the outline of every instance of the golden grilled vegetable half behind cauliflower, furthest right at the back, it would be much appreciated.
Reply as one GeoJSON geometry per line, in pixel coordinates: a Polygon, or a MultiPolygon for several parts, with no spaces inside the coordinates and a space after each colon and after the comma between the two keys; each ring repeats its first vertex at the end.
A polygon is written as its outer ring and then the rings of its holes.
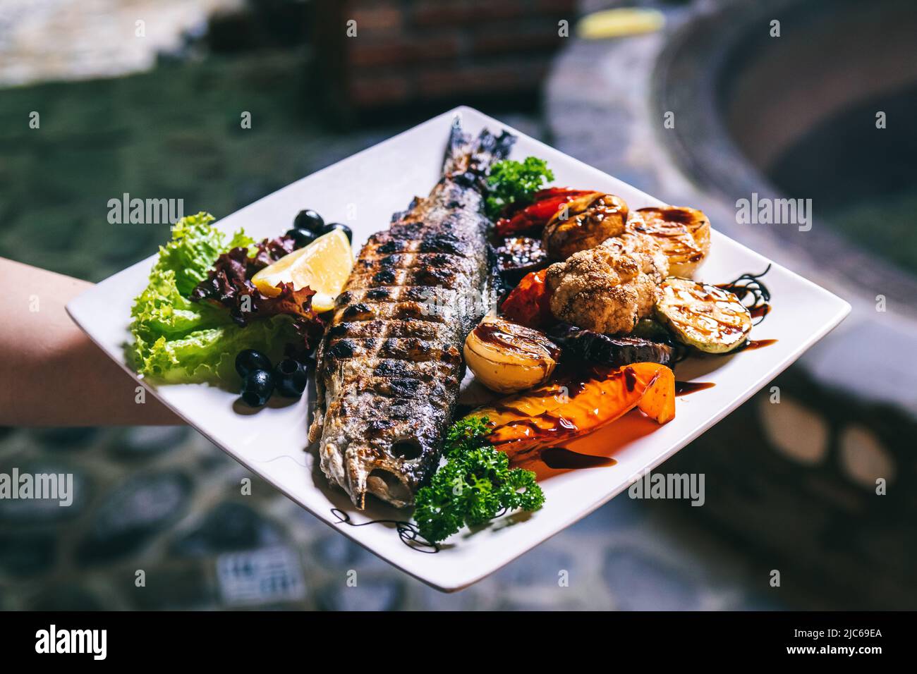
{"type": "Polygon", "coordinates": [[[691,276],[710,252],[710,220],[695,208],[640,208],[627,229],[656,239],[672,276],[691,276]]]}

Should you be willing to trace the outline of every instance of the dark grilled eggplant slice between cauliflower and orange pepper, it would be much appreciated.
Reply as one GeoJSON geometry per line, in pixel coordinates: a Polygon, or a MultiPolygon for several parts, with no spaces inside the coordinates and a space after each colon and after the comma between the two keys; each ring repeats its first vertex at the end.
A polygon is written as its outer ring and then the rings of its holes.
{"type": "Polygon", "coordinates": [[[674,350],[668,344],[640,337],[610,337],[567,323],[555,326],[548,335],[564,348],[565,353],[613,368],[640,362],[668,365],[674,350]]]}

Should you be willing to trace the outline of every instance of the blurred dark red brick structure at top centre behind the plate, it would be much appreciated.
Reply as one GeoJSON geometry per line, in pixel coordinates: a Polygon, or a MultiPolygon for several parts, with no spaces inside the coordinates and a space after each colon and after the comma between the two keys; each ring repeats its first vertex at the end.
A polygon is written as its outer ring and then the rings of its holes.
{"type": "Polygon", "coordinates": [[[316,66],[336,111],[537,90],[576,0],[316,0],[316,66]],[[348,37],[355,21],[356,36],[348,37]]]}

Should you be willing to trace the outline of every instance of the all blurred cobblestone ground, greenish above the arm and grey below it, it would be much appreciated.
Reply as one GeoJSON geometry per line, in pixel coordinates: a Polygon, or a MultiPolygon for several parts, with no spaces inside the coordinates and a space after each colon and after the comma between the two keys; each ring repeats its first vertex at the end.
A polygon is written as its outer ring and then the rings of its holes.
{"type": "MultiPolygon", "coordinates": [[[[106,202],[182,197],[226,215],[416,120],[348,134],[310,114],[298,53],[0,95],[0,255],[97,281],[165,227],[114,236],[106,202]],[[28,128],[28,112],[41,115],[28,128]],[[252,129],[238,129],[240,110],[252,129]]],[[[530,114],[495,111],[544,136],[530,114]]],[[[549,138],[546,138],[549,140],[549,138]]],[[[690,457],[693,447],[683,454],[690,457]]],[[[699,470],[692,464],[682,470],[699,470]]],[[[619,497],[457,594],[318,523],[187,428],[0,429],[0,470],[74,474],[69,508],[0,502],[0,608],[749,609],[817,607],[688,503],[619,497]],[[348,587],[348,571],[358,583],[348,587]],[[569,587],[558,573],[569,572],[569,587]],[[143,586],[138,587],[140,580],[143,586]]],[[[664,469],[663,469],[664,470],[664,469]]],[[[703,469],[702,469],[703,470],[703,469]]]]}

